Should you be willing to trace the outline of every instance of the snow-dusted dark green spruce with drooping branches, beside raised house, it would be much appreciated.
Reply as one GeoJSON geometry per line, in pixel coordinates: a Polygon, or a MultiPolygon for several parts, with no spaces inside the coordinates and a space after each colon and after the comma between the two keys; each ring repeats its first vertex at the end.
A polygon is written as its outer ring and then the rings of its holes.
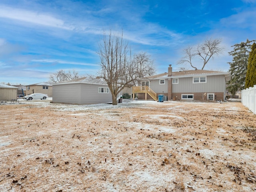
{"type": "Polygon", "coordinates": [[[231,74],[231,80],[227,84],[227,90],[231,94],[244,89],[248,57],[252,46],[251,42],[255,41],[247,39],[246,42],[235,44],[232,46],[234,50],[228,53],[230,56],[233,56],[232,62],[228,62],[230,64],[229,72],[231,74]]]}

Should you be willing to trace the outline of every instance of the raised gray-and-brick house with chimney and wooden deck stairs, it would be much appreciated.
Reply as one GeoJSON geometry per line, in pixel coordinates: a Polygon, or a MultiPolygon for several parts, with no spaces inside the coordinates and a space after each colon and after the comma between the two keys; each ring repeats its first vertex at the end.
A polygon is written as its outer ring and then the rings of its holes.
{"type": "Polygon", "coordinates": [[[157,100],[158,94],[166,100],[224,100],[226,82],[231,78],[230,72],[208,70],[186,70],[150,76],[141,80],[141,86],[133,87],[133,97],[157,100]]]}

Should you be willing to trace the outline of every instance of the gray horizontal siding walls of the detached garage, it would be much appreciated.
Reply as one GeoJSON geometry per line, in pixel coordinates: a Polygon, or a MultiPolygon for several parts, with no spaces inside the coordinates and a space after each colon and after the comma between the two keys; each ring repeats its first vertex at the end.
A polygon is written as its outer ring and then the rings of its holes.
{"type": "Polygon", "coordinates": [[[111,93],[98,93],[103,85],[74,83],[53,85],[52,102],[92,104],[112,101],[111,93]]]}

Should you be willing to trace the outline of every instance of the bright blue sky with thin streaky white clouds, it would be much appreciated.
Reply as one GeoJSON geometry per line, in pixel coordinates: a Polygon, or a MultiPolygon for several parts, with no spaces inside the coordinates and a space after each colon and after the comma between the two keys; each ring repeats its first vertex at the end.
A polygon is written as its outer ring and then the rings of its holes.
{"type": "Polygon", "coordinates": [[[123,30],[157,73],[182,67],[184,48],[221,38],[225,51],[204,69],[228,71],[231,46],[256,39],[255,13],[256,0],[1,0],[0,83],[46,82],[58,70],[96,74],[110,30],[123,30]]]}

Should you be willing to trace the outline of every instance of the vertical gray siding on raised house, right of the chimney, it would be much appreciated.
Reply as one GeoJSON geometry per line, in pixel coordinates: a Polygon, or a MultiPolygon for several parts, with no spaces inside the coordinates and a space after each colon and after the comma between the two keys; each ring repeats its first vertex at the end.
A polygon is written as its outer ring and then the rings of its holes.
{"type": "Polygon", "coordinates": [[[172,84],[172,92],[224,92],[225,84],[223,75],[207,76],[206,83],[193,83],[193,77],[179,78],[178,84],[172,84]]]}

